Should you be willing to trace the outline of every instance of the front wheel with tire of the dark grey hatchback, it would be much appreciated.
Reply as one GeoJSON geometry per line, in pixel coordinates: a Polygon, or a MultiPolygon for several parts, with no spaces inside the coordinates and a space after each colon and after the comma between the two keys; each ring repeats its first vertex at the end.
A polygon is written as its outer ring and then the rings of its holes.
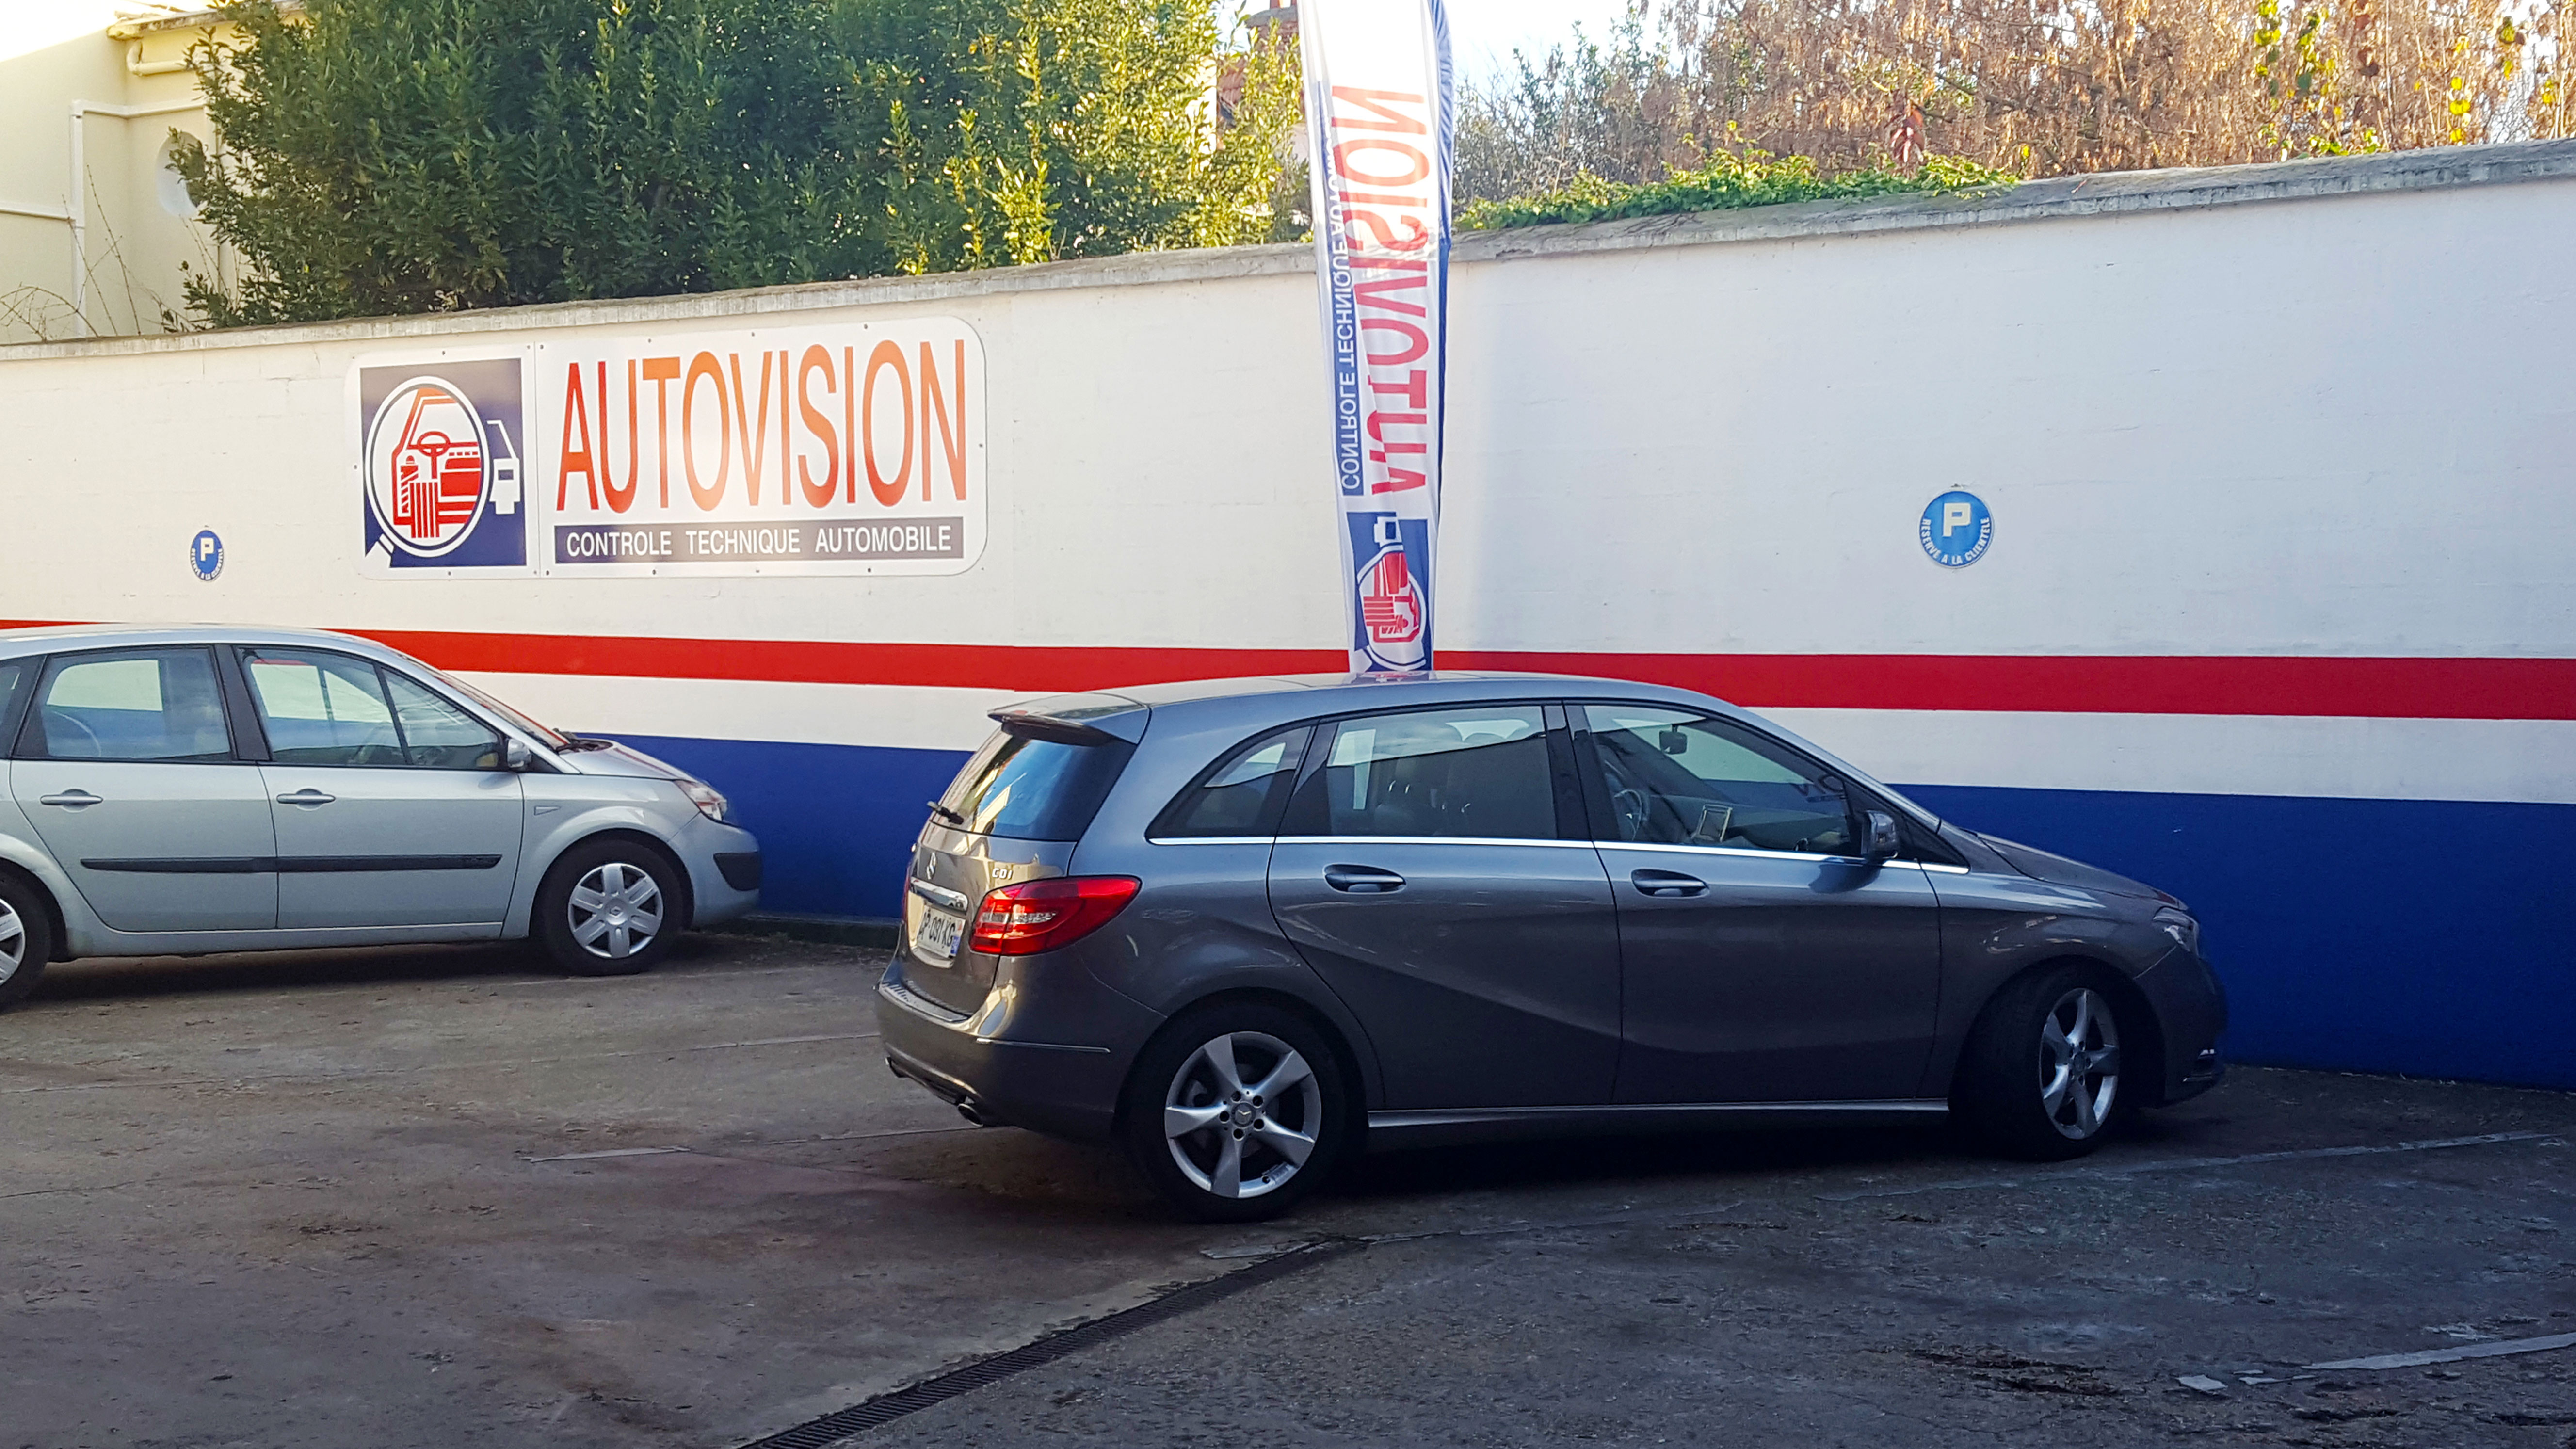
{"type": "Polygon", "coordinates": [[[2099,969],[2022,975],[1994,993],[1968,1031],[1950,1111],[2007,1158],[2081,1158],[2138,1106],[2138,1078],[2120,1070],[2120,998],[2099,969]]]}

